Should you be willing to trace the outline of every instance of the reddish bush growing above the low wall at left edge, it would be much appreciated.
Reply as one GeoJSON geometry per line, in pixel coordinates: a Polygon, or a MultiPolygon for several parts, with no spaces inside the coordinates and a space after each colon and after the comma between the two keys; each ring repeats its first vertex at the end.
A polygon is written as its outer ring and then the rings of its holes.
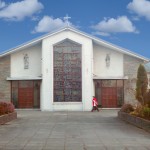
{"type": "Polygon", "coordinates": [[[14,105],[9,102],[0,102],[0,115],[14,112],[14,105]]]}

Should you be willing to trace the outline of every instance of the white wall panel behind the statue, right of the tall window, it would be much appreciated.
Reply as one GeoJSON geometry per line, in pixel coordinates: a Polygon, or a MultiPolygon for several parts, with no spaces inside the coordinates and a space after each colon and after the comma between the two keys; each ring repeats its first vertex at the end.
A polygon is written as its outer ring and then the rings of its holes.
{"type": "Polygon", "coordinates": [[[111,78],[123,76],[123,54],[94,44],[94,75],[111,78]],[[110,66],[106,67],[106,55],[110,55],[110,66]]]}

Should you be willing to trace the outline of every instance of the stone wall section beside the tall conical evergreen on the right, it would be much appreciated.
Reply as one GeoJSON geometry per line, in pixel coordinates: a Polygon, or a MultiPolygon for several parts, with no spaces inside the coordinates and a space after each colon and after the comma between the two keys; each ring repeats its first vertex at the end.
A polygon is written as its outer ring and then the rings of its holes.
{"type": "Polygon", "coordinates": [[[124,102],[135,104],[135,88],[137,79],[137,70],[144,61],[129,55],[124,55],[124,76],[128,76],[128,80],[124,81],[124,102]]]}

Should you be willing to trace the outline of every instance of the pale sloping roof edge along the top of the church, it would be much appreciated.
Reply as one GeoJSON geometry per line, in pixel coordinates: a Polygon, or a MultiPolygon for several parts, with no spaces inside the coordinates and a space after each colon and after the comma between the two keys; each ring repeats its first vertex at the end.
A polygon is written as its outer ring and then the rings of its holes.
{"type": "Polygon", "coordinates": [[[103,45],[103,46],[105,46],[105,47],[111,48],[111,49],[113,49],[113,50],[115,50],[115,51],[118,51],[118,52],[121,52],[121,53],[123,53],[123,54],[127,54],[127,55],[130,55],[130,56],[133,56],[133,57],[142,59],[142,60],[144,60],[144,61],[150,61],[150,59],[148,59],[148,58],[146,58],[146,57],[144,57],[144,56],[142,56],[142,55],[139,55],[139,54],[137,54],[137,53],[134,53],[134,52],[132,52],[132,51],[129,51],[129,50],[127,50],[127,49],[124,49],[124,48],[122,48],[122,47],[119,47],[119,46],[117,46],[117,45],[114,45],[114,44],[112,44],[112,43],[106,42],[106,41],[104,41],[104,40],[102,40],[102,39],[100,39],[100,38],[97,38],[97,37],[95,37],[95,36],[92,36],[92,35],[90,35],[90,34],[87,34],[87,33],[83,32],[83,31],[80,31],[80,30],[78,30],[78,29],[76,29],[76,28],[73,28],[73,27],[71,27],[71,26],[66,26],[66,27],[60,28],[60,29],[58,29],[58,30],[56,30],[56,31],[50,32],[50,33],[45,34],[45,35],[43,35],[43,36],[41,36],[41,37],[38,37],[38,38],[35,38],[35,39],[31,40],[31,41],[28,41],[28,42],[26,42],[26,43],[23,43],[23,44],[21,44],[21,45],[15,47],[15,48],[9,49],[9,50],[7,50],[7,51],[1,53],[1,54],[0,54],[0,57],[6,56],[6,55],[8,55],[8,54],[17,52],[17,51],[22,50],[22,49],[24,49],[24,48],[27,48],[27,47],[30,47],[30,46],[35,45],[35,44],[37,44],[37,43],[40,43],[43,39],[45,39],[45,38],[47,38],[47,37],[53,36],[53,35],[55,35],[55,34],[57,34],[57,33],[60,33],[60,32],[63,32],[63,31],[67,31],[67,30],[68,30],[68,31],[75,32],[75,33],[78,33],[78,34],[80,34],[80,35],[82,35],[82,36],[85,36],[85,37],[87,37],[87,38],[90,38],[90,39],[92,39],[92,40],[93,40],[95,43],[97,43],[97,44],[100,44],[100,45],[103,45]]]}

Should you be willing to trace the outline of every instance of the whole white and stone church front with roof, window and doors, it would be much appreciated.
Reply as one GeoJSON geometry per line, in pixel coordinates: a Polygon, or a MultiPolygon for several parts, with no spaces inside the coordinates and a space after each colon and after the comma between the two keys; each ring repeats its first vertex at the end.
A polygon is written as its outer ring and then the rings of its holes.
{"type": "Polygon", "coordinates": [[[90,111],[134,103],[139,64],[149,59],[72,27],[0,55],[0,101],[42,111],[90,111]]]}

